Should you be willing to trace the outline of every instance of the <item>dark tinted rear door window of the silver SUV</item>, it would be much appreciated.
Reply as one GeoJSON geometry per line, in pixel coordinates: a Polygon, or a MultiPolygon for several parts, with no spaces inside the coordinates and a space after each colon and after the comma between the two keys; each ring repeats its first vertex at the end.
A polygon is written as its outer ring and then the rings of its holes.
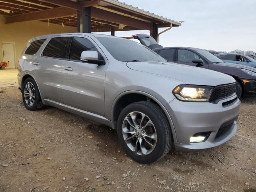
{"type": "Polygon", "coordinates": [[[52,38],[44,49],[43,56],[53,58],[65,58],[65,50],[68,37],[52,38]]]}

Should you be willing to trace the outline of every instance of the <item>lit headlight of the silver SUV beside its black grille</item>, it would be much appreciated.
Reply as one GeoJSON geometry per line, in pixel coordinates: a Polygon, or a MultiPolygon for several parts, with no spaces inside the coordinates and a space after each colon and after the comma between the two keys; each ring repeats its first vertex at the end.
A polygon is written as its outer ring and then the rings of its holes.
{"type": "Polygon", "coordinates": [[[209,86],[179,85],[172,93],[181,101],[208,102],[212,89],[209,86]]]}

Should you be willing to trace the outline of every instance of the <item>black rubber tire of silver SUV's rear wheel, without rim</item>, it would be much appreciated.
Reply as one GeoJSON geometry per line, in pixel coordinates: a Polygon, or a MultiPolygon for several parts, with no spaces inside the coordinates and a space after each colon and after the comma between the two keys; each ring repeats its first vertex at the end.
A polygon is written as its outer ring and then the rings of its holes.
{"type": "Polygon", "coordinates": [[[39,93],[39,90],[38,90],[38,87],[36,85],[36,82],[33,78],[29,77],[29,78],[26,78],[26,80],[24,81],[24,83],[22,84],[22,100],[23,100],[23,104],[24,106],[30,110],[30,111],[35,111],[35,110],[41,110],[44,105],[42,103],[42,99],[41,99],[41,96],[40,96],[40,93],[39,93]],[[34,93],[35,93],[35,100],[34,100],[34,104],[32,106],[28,105],[26,103],[26,100],[25,100],[25,94],[24,94],[24,91],[25,91],[25,86],[28,82],[31,82],[34,86],[34,93]]]}

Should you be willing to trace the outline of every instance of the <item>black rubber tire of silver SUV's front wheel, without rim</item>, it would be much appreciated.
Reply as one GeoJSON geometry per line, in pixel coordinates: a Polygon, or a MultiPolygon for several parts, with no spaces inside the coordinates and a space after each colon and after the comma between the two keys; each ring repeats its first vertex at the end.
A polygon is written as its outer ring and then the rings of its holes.
{"type": "Polygon", "coordinates": [[[166,115],[158,105],[150,102],[136,102],[126,106],[118,117],[117,133],[118,140],[126,151],[126,154],[142,164],[156,162],[164,157],[170,151],[172,146],[172,132],[166,115]],[[147,155],[141,156],[136,154],[130,150],[124,141],[122,125],[126,116],[131,112],[141,112],[145,114],[154,124],[157,134],[156,146],[154,150],[147,155]]]}

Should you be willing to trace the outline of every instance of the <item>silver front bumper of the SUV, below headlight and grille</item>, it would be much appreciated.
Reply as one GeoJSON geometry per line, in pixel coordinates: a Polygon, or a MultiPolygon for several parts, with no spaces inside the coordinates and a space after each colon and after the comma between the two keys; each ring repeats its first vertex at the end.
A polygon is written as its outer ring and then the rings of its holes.
{"type": "Polygon", "coordinates": [[[172,100],[166,108],[174,124],[176,150],[207,149],[230,140],[237,131],[240,104],[236,95],[217,104],[172,100]],[[210,132],[208,139],[205,142],[190,143],[190,137],[201,132],[210,132]]]}

